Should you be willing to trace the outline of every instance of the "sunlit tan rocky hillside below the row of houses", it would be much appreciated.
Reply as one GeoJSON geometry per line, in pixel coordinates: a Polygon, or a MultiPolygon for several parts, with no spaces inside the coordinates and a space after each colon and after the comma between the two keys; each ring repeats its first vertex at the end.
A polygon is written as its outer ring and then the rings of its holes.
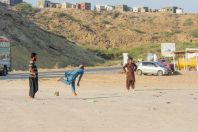
{"type": "Polygon", "coordinates": [[[94,12],[43,9],[30,18],[42,29],[80,45],[125,48],[138,44],[190,42],[198,37],[198,14],[94,12]]]}

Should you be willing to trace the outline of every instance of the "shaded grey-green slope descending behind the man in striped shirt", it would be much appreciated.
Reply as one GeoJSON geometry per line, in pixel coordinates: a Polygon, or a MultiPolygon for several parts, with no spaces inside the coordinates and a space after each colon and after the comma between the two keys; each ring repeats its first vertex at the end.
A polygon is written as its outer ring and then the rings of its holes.
{"type": "Polygon", "coordinates": [[[103,62],[95,54],[48,31],[28,20],[26,15],[0,4],[0,35],[11,41],[13,69],[27,69],[31,52],[38,53],[40,68],[103,62]]]}

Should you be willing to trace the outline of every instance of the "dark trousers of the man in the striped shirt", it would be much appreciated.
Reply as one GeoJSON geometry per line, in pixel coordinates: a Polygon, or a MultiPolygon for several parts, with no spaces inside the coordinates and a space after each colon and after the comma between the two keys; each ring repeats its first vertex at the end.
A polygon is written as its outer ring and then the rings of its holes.
{"type": "Polygon", "coordinates": [[[34,98],[36,92],[38,91],[38,77],[29,77],[29,85],[29,96],[34,98]]]}

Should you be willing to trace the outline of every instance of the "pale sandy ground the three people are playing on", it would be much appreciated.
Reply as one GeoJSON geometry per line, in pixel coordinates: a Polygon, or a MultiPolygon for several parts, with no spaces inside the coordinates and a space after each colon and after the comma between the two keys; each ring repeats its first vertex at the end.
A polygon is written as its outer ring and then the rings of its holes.
{"type": "Polygon", "coordinates": [[[198,132],[198,73],[138,76],[134,94],[123,74],[85,75],[78,97],[39,83],[30,100],[27,80],[0,81],[0,132],[198,132]]]}

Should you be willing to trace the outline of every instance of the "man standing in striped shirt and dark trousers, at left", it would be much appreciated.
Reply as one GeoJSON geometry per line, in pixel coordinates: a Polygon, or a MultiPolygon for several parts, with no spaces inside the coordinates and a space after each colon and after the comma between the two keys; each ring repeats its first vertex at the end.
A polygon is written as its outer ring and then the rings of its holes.
{"type": "Polygon", "coordinates": [[[32,53],[31,54],[31,60],[29,63],[29,96],[31,99],[35,98],[35,94],[38,91],[38,69],[36,66],[37,61],[37,54],[32,53]]]}

